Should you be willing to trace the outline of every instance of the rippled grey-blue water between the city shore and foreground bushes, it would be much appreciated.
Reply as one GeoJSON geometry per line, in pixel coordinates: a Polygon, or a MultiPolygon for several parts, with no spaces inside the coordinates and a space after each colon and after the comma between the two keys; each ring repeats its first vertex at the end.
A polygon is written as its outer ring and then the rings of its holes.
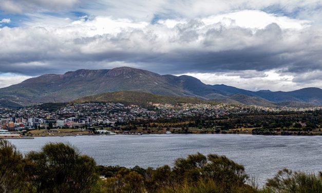
{"type": "Polygon", "coordinates": [[[252,136],[234,134],[149,134],[144,136],[40,137],[11,140],[20,151],[38,151],[48,142],[77,147],[101,165],[158,167],[188,154],[218,153],[245,166],[262,184],[282,167],[322,171],[322,136],[252,136]]]}

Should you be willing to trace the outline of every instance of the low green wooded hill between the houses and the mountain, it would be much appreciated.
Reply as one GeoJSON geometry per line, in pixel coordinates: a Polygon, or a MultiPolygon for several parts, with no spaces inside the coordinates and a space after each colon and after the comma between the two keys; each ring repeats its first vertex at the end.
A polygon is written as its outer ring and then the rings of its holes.
{"type": "Polygon", "coordinates": [[[92,96],[86,96],[84,98],[74,100],[71,103],[85,102],[122,103],[125,105],[139,106],[147,106],[149,102],[161,104],[203,103],[202,100],[196,98],[188,98],[182,96],[165,96],[138,91],[107,92],[92,96]]]}

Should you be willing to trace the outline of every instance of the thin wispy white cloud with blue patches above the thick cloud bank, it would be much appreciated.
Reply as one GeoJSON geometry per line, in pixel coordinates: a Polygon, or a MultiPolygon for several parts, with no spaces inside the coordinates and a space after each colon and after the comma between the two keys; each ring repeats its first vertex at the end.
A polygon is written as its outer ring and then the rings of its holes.
{"type": "Polygon", "coordinates": [[[262,10],[280,16],[290,16],[320,23],[321,7],[322,2],[319,0],[0,0],[0,10],[7,13],[25,14],[35,11],[46,13],[63,10],[145,22],[172,18],[192,20],[232,11],[262,10]]]}

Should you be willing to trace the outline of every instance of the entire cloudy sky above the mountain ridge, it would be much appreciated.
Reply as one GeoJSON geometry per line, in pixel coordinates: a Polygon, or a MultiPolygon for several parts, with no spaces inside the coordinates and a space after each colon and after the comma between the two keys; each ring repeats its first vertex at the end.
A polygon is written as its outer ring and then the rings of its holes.
{"type": "Polygon", "coordinates": [[[322,88],[322,1],[0,0],[0,87],[128,66],[248,90],[322,88]]]}

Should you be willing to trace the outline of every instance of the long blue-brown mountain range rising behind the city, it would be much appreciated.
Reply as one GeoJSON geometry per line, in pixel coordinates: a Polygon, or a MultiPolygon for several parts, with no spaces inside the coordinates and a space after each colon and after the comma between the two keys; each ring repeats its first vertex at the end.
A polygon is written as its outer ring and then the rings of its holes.
{"type": "Polygon", "coordinates": [[[137,91],[168,96],[187,96],[223,103],[307,107],[322,105],[322,89],[249,91],[227,85],[207,85],[188,75],[160,75],[147,70],[119,67],[110,70],[76,70],[44,74],[0,89],[0,107],[70,102],[89,95],[137,91]]]}

